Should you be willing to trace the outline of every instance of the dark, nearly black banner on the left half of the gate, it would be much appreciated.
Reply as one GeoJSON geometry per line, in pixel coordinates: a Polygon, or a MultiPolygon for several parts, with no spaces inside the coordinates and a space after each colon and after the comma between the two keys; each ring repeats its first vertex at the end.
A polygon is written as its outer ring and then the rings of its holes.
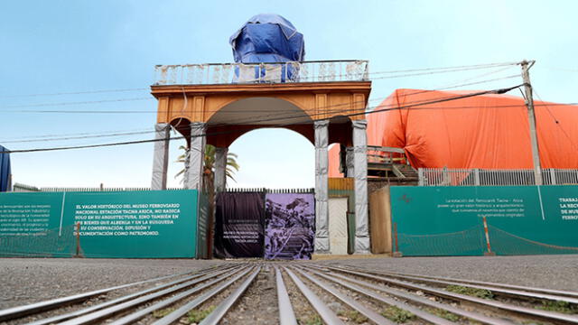
{"type": "Polygon", "coordinates": [[[264,194],[222,192],[215,213],[215,255],[263,257],[264,194]]]}

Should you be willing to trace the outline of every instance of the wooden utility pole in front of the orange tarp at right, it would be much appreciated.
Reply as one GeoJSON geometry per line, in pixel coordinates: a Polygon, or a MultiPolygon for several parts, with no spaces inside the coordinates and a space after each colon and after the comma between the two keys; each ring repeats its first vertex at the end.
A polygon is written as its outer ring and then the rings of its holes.
{"type": "Polygon", "coordinates": [[[526,92],[527,122],[530,126],[530,140],[532,142],[532,161],[534,162],[534,180],[536,185],[542,185],[542,166],[540,165],[540,151],[538,150],[538,136],[536,134],[536,114],[534,113],[534,98],[532,98],[532,84],[528,70],[532,68],[536,61],[523,60],[522,79],[524,79],[524,90],[526,92]],[[528,66],[529,64],[529,66],[528,66]]]}

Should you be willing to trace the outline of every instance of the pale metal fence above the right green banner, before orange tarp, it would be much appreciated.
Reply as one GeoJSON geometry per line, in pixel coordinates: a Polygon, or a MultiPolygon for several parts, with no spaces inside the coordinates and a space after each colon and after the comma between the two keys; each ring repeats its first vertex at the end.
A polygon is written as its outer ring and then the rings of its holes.
{"type": "MultiPolygon", "coordinates": [[[[419,186],[534,185],[534,170],[420,168],[419,186]]],[[[544,185],[578,184],[578,170],[544,169],[544,185]]]]}

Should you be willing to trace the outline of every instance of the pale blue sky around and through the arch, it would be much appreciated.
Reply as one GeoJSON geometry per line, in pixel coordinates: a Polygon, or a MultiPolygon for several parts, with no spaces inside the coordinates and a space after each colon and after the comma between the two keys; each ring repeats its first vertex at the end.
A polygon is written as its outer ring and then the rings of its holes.
{"type": "MultiPolygon", "coordinates": [[[[577,10],[578,2],[571,0],[5,2],[0,144],[20,150],[151,139],[154,65],[231,62],[228,37],[251,16],[265,13],[283,15],[303,33],[306,60],[369,60],[368,107],[396,88],[441,88],[511,76],[519,67],[396,79],[378,79],[379,72],[524,59],[536,60],[530,78],[540,98],[578,102],[577,10]],[[109,113],[78,113],[82,110],[109,113]],[[110,113],[115,110],[147,113],[110,113]],[[135,135],[51,140],[119,132],[135,135]]],[[[473,87],[520,83],[513,78],[473,87]]],[[[171,162],[182,144],[172,141],[171,162]]],[[[256,130],[229,151],[238,154],[241,166],[230,187],[314,186],[313,146],[293,131],[256,130]]],[[[153,144],[13,153],[11,160],[14,182],[37,187],[149,187],[153,144]]],[[[181,169],[181,163],[170,164],[169,186],[181,186],[174,178],[181,169]]]]}

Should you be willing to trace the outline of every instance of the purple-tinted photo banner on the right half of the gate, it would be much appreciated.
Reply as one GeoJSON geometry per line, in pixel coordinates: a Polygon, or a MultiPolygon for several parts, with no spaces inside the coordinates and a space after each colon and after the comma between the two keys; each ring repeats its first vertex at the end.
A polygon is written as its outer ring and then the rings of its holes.
{"type": "Polygon", "coordinates": [[[266,195],[266,259],[311,259],[315,198],[311,193],[266,195]]]}

